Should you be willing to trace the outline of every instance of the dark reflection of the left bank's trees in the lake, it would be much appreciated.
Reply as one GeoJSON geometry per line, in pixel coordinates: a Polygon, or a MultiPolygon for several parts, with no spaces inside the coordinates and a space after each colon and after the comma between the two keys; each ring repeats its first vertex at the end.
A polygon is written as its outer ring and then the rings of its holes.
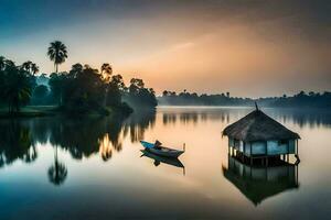
{"type": "MultiPolygon", "coordinates": [[[[128,119],[120,117],[108,118],[38,118],[0,121],[0,166],[11,164],[15,160],[26,163],[36,156],[36,143],[50,142],[82,160],[93,154],[100,154],[108,161],[114,152],[122,150],[122,141],[130,135],[132,142],[143,139],[146,129],[153,127],[154,112],[137,112],[128,119]]],[[[52,166],[52,176],[64,167],[56,160],[52,166]],[[54,173],[55,172],[55,173],[54,173]]],[[[50,168],[51,172],[51,168],[50,168]]],[[[58,173],[61,174],[61,173],[58,173]]]]}

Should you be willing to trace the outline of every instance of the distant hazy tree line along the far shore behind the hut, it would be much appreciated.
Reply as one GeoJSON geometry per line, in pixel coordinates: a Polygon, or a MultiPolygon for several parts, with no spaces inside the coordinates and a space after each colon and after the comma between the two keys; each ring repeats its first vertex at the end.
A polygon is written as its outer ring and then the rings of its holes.
{"type": "Polygon", "coordinates": [[[158,97],[160,106],[254,106],[258,102],[264,107],[307,107],[307,108],[330,108],[331,92],[305,92],[300,91],[293,96],[284,95],[281,97],[268,98],[241,98],[231,97],[229,92],[218,95],[197,95],[196,92],[188,92],[186,90],[177,94],[174,91],[164,90],[161,97],[158,97]]]}

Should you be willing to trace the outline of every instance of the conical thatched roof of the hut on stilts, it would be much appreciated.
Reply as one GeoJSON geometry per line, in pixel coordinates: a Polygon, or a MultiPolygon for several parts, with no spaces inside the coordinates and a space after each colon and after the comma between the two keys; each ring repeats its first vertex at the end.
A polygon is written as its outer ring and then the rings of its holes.
{"type": "Polygon", "coordinates": [[[223,135],[247,142],[300,139],[299,134],[288,130],[258,109],[226,127],[223,135]]]}

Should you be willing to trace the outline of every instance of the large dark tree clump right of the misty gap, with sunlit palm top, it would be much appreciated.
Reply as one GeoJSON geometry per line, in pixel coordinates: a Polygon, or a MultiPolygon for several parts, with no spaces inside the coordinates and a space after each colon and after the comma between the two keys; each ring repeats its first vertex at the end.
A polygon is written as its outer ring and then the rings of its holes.
{"type": "Polygon", "coordinates": [[[121,101],[125,88],[120,75],[111,76],[110,65],[104,64],[102,73],[89,65],[75,64],[70,73],[53,73],[50,79],[53,100],[66,112],[96,111],[107,114],[107,107],[124,114],[131,108],[121,101]]]}

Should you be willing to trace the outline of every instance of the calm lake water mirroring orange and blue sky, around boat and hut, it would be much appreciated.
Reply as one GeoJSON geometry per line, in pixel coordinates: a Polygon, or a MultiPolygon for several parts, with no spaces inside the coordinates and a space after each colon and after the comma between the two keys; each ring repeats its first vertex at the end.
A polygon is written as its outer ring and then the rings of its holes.
{"type": "Polygon", "coordinates": [[[228,156],[221,133],[252,110],[0,120],[0,219],[329,218],[331,113],[263,109],[300,134],[301,163],[259,167],[228,156]],[[186,152],[142,154],[139,141],[156,139],[186,152]]]}

